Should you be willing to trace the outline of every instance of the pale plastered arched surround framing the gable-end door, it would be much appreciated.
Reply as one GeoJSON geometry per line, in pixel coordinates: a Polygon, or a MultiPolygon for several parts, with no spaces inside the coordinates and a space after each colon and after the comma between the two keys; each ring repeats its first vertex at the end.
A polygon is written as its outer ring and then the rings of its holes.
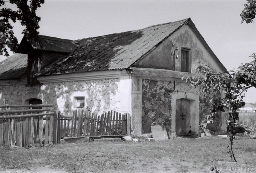
{"type": "Polygon", "coordinates": [[[199,131],[199,96],[193,93],[179,92],[171,97],[171,132],[176,132],[176,100],[182,98],[190,100],[190,130],[193,132],[199,131]]]}

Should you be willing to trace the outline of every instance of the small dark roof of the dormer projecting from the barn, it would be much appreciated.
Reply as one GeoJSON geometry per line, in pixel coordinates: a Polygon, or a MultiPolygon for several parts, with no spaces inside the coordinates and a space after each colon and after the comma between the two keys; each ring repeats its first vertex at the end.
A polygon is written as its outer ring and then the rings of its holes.
{"type": "Polygon", "coordinates": [[[60,39],[44,35],[39,35],[39,40],[37,42],[33,42],[31,40],[27,41],[35,50],[46,50],[65,53],[74,52],[74,50],[80,45],[79,42],[74,40],[60,39]]]}

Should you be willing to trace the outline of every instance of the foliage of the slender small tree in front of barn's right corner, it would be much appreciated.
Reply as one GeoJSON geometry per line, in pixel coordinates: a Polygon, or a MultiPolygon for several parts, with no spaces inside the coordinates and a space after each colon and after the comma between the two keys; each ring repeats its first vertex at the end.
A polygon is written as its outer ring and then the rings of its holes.
{"type": "MultiPolygon", "coordinates": [[[[247,89],[256,88],[256,54],[253,53],[250,57],[254,59],[252,62],[241,64],[238,70],[230,70],[230,74],[214,72],[207,65],[199,62],[197,70],[202,75],[188,77],[186,82],[194,87],[200,87],[205,94],[223,91],[225,93],[224,98],[217,98],[214,95],[210,100],[212,103],[211,112],[212,114],[218,111],[225,112],[224,108],[226,108],[232,113],[245,105],[243,98],[247,89]]],[[[230,114],[231,118],[238,120],[238,117],[233,117],[233,115],[230,114]]]]}

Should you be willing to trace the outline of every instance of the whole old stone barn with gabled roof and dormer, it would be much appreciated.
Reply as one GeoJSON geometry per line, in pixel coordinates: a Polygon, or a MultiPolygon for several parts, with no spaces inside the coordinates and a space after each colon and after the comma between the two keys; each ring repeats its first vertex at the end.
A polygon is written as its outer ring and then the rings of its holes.
{"type": "MultiPolygon", "coordinates": [[[[52,103],[64,114],[116,110],[131,114],[133,135],[151,133],[152,125],[196,133],[211,96],[181,77],[196,75],[199,61],[227,72],[190,18],[79,40],[23,38],[18,53],[0,62],[0,105],[52,103]]],[[[224,120],[219,113],[209,129],[225,130],[224,120]]]]}

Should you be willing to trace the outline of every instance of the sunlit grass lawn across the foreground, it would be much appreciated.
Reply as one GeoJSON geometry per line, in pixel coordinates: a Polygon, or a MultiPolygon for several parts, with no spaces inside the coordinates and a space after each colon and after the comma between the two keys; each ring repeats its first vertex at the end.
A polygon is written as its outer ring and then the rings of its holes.
{"type": "Polygon", "coordinates": [[[70,173],[82,172],[214,172],[211,161],[221,172],[256,172],[255,140],[234,140],[238,163],[230,162],[228,138],[175,138],[152,142],[85,142],[53,147],[2,148],[0,172],[47,167],[70,173]],[[251,169],[251,171],[248,171],[251,169]],[[252,170],[253,169],[253,170],[252,170]]]}

